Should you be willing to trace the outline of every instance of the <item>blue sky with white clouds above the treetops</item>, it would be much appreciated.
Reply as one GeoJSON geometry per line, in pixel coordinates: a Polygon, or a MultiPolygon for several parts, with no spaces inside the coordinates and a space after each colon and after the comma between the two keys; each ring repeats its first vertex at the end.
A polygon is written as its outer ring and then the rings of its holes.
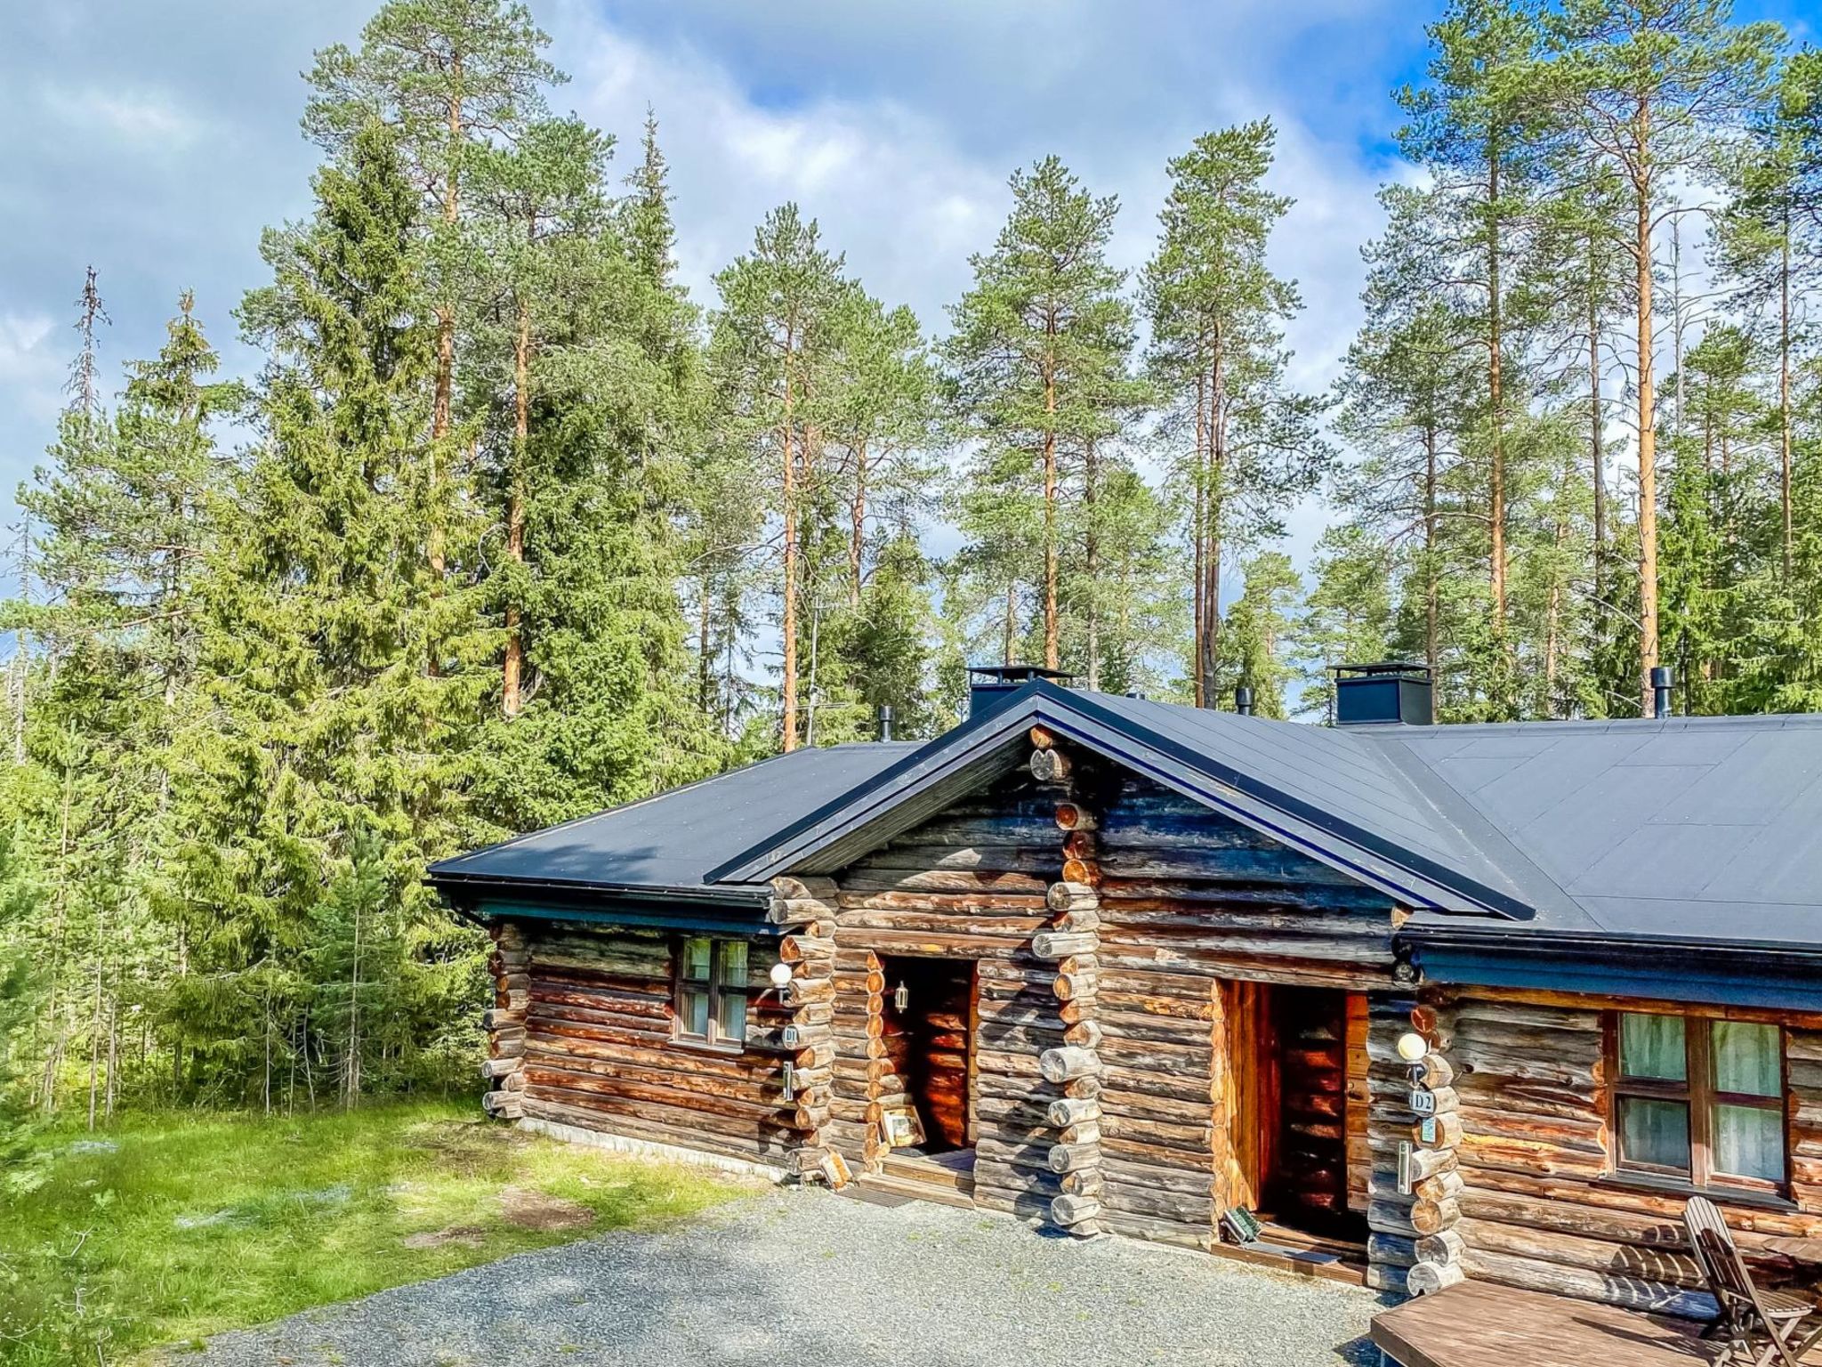
{"type": "MultiPolygon", "coordinates": [[[[180,290],[231,370],[257,357],[231,312],[261,283],[259,233],[308,210],[297,131],[313,49],[353,42],[374,0],[58,0],[0,7],[0,492],[40,459],[95,264],[104,366],[153,352],[180,290]]],[[[1374,190],[1407,175],[1388,91],[1421,75],[1432,0],[532,0],[556,91],[630,142],[645,106],[674,171],[683,277],[700,299],[785,199],[889,303],[933,328],[991,244],[1006,175],[1055,151],[1122,202],[1139,266],[1164,160],[1208,128],[1270,115],[1274,246],[1308,304],[1295,375],[1325,385],[1357,323],[1374,190]]],[[[1742,13],[1800,35],[1802,0],[1742,13]]],[[[1319,510],[1297,519],[1306,545],[1319,510]]]]}

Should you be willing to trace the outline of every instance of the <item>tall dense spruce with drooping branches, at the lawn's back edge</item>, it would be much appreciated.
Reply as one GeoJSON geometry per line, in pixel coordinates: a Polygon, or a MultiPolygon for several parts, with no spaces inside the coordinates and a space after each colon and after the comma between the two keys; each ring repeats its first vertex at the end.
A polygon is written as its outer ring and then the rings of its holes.
{"type": "Polygon", "coordinates": [[[308,222],[268,233],[273,283],[242,308],[271,363],[204,583],[211,705],[180,784],[193,975],[173,1006],[211,1074],[250,1083],[271,1055],[244,1023],[281,1012],[284,1050],[308,1064],[326,1041],[352,1099],[359,1041],[350,1054],[348,1021],[313,1012],[337,933],[319,899],[366,860],[366,926],[408,946],[394,1015],[417,1044],[392,1066],[410,1075],[477,984],[477,946],[421,879],[490,833],[465,787],[494,660],[474,592],[448,592],[425,554],[437,321],[399,135],[370,120],[315,191],[308,222]]]}

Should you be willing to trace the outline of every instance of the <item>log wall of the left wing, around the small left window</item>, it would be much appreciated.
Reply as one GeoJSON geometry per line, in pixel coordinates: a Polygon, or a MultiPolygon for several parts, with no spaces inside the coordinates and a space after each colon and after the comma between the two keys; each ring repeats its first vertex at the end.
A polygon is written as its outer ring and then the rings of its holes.
{"type": "Polygon", "coordinates": [[[785,1044],[793,1015],[767,990],[776,939],[749,942],[747,1044],[731,1052],[672,1039],[672,935],[559,920],[514,922],[496,935],[503,951],[512,944],[523,953],[525,988],[523,999],[512,988],[488,1021],[492,1050],[508,1037],[521,1050],[512,1077],[519,1105],[490,1106],[494,1114],[774,1163],[805,1143],[804,1119],[814,1117],[800,1114],[802,1081],[785,1097],[783,1068],[814,1059],[785,1044]]]}

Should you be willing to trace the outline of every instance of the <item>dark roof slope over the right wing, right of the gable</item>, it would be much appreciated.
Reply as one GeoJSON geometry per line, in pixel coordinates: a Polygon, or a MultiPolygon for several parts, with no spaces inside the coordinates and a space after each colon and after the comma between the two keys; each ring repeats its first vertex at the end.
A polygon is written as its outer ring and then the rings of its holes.
{"type": "Polygon", "coordinates": [[[1822,944],[1822,716],[1354,735],[1561,889],[1540,928],[1822,944]]]}

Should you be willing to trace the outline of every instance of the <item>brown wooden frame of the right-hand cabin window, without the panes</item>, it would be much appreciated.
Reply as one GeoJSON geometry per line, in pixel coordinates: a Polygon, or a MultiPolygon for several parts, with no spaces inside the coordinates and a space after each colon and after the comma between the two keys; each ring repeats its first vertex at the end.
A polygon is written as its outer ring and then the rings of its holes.
{"type": "Polygon", "coordinates": [[[1612,1137],[1609,1163],[1614,1177],[1638,1179],[1651,1185],[1687,1188],[1694,1192],[1715,1192],[1722,1197],[1782,1197],[1791,1188],[1791,1105],[1789,1105],[1789,1057],[1786,1052],[1784,1024],[1776,1021],[1751,1021],[1744,1024],[1769,1024],[1778,1032],[1778,1094],[1766,1097],[1749,1092],[1722,1092],[1715,1086],[1715,1026],[1725,1017],[1693,1012],[1638,1012],[1609,1010],[1602,1013],[1605,1033],[1607,1063],[1607,1132],[1612,1137]],[[1627,1077],[1620,1066],[1620,1017],[1622,1015],[1676,1015],[1684,1021],[1684,1077],[1671,1081],[1662,1077],[1627,1077]],[[1689,1108],[1689,1170],[1669,1168],[1658,1163],[1631,1163],[1622,1152],[1620,1105],[1625,1097],[1645,1101],[1680,1101],[1689,1108]],[[1784,1176],[1776,1181],[1766,1177],[1744,1177],[1715,1168],[1715,1108],[1751,1106],[1755,1110],[1776,1110],[1780,1132],[1784,1136],[1784,1176]]]}

